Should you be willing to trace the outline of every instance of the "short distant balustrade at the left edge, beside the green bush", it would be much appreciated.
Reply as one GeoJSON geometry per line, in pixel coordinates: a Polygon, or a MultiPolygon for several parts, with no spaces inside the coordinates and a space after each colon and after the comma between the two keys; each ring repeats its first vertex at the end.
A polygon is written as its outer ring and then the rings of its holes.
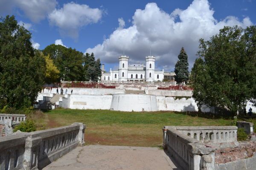
{"type": "Polygon", "coordinates": [[[22,122],[26,120],[25,114],[3,114],[0,113],[0,125],[6,125],[8,122],[22,122]],[[13,120],[13,121],[12,121],[13,120]]]}

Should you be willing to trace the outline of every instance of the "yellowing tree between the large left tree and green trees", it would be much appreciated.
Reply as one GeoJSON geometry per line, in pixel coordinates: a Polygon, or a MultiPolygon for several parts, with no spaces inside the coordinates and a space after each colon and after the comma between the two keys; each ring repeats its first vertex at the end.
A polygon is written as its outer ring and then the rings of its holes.
{"type": "Polygon", "coordinates": [[[54,65],[52,59],[50,59],[49,54],[47,56],[42,56],[45,59],[46,62],[46,74],[45,74],[45,82],[51,83],[51,82],[57,82],[59,78],[60,71],[58,68],[54,65]]]}

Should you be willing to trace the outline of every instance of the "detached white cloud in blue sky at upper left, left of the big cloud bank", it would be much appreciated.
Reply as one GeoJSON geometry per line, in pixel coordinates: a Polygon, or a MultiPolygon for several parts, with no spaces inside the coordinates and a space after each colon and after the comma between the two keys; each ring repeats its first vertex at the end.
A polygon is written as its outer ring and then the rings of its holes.
{"type": "Polygon", "coordinates": [[[55,9],[48,17],[49,23],[57,26],[61,35],[77,38],[81,27],[101,19],[102,11],[71,2],[64,4],[63,8],[55,9]]]}

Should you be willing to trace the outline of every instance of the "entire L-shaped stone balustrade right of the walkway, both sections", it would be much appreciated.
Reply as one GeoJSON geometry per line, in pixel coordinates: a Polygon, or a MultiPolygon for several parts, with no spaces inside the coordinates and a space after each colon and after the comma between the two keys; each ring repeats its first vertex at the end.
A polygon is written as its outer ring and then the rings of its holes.
{"type": "Polygon", "coordinates": [[[185,170],[214,170],[215,149],[238,145],[236,126],[163,127],[163,147],[185,170]]]}

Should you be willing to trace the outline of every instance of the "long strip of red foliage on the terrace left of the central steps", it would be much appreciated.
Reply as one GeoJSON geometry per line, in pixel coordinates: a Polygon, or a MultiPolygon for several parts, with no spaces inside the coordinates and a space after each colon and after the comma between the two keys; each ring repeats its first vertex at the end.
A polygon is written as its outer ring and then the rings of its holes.
{"type": "Polygon", "coordinates": [[[71,82],[71,83],[67,83],[63,87],[64,88],[116,88],[116,86],[113,86],[113,85],[107,86],[97,82],[90,82],[90,83],[71,82]]]}

